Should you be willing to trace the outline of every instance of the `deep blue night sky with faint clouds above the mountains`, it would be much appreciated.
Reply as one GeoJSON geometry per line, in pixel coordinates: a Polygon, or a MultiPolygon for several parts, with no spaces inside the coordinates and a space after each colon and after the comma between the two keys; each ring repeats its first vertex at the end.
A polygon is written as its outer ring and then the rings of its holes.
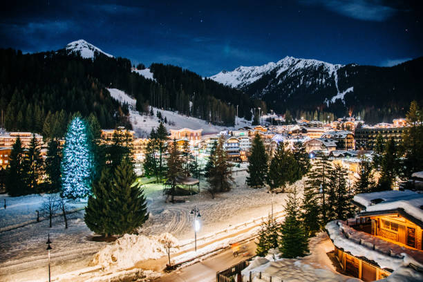
{"type": "Polygon", "coordinates": [[[133,64],[204,76],[287,55],[392,66],[423,55],[418,2],[3,1],[0,47],[32,53],[85,39],[133,64]]]}

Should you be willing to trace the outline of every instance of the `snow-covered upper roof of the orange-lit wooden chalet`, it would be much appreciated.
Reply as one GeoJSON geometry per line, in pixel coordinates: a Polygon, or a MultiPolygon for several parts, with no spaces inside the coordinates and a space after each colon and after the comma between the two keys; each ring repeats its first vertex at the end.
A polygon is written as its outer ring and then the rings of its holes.
{"type": "Polygon", "coordinates": [[[404,213],[423,222],[423,194],[413,191],[382,191],[355,195],[355,203],[364,207],[366,214],[393,209],[404,209],[404,213]]]}

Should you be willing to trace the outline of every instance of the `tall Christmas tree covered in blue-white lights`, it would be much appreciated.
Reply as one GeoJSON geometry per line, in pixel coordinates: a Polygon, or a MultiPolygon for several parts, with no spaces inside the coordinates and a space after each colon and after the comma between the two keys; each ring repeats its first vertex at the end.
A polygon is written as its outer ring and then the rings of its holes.
{"type": "Polygon", "coordinates": [[[88,129],[76,117],[68,126],[62,158],[62,189],[67,198],[86,198],[91,194],[93,151],[88,129]]]}

